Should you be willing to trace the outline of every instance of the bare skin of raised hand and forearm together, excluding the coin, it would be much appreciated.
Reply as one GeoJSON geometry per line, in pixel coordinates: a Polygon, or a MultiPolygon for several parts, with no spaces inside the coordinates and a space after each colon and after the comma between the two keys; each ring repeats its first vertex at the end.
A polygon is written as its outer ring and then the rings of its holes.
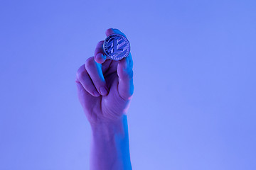
{"type": "MultiPolygon", "coordinates": [[[[106,30],[107,36],[113,33],[124,35],[117,29],[106,30]]],[[[132,169],[127,128],[127,111],[134,93],[132,55],[110,60],[103,42],[97,43],[95,55],[82,64],[75,79],[92,129],[90,169],[132,169]]]]}

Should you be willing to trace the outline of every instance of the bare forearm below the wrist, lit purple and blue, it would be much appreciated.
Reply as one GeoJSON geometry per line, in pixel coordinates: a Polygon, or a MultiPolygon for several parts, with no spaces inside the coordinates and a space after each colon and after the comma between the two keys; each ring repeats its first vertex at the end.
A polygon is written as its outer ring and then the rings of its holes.
{"type": "Polygon", "coordinates": [[[114,123],[92,125],[90,170],[132,169],[127,115],[114,123]]]}

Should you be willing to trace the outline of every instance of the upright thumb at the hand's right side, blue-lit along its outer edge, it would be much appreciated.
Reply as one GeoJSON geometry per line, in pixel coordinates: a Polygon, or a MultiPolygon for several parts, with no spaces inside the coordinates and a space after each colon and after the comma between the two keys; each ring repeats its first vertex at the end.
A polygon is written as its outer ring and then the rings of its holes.
{"type": "Polygon", "coordinates": [[[118,92],[119,96],[124,100],[132,98],[132,94],[134,93],[132,67],[133,61],[131,53],[120,60],[117,65],[118,92]]]}

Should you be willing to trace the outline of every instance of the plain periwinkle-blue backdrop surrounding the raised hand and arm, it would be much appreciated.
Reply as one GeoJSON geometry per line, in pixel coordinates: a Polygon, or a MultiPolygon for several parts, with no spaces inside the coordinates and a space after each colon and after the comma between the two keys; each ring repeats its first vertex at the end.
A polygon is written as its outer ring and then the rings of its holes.
{"type": "Polygon", "coordinates": [[[0,1],[0,169],[88,169],[75,72],[131,42],[134,169],[256,169],[256,1],[0,1]]]}

